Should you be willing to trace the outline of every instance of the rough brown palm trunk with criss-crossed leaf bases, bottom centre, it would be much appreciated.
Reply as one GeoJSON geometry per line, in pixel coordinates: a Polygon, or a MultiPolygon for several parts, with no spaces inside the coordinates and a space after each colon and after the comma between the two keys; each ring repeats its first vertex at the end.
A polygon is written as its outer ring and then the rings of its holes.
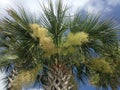
{"type": "Polygon", "coordinates": [[[71,74],[65,65],[55,64],[52,68],[47,68],[47,71],[44,71],[40,81],[44,90],[73,90],[74,85],[70,83],[71,74]]]}

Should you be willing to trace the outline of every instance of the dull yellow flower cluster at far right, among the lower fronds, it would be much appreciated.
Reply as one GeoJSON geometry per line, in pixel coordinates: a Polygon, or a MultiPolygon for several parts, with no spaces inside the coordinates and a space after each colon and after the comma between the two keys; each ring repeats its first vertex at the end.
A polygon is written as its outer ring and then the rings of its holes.
{"type": "Polygon", "coordinates": [[[113,70],[109,64],[104,58],[91,60],[90,66],[95,71],[100,71],[102,73],[112,73],[113,70]]]}

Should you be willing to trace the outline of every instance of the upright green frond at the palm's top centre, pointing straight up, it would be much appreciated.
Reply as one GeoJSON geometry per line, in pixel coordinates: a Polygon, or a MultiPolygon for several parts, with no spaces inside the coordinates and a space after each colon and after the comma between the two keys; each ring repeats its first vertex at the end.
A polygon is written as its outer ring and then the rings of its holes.
{"type": "Polygon", "coordinates": [[[60,43],[61,35],[67,29],[66,27],[66,12],[67,6],[63,6],[61,0],[55,4],[49,0],[48,7],[42,6],[43,14],[41,17],[42,24],[52,33],[54,43],[60,43]]]}

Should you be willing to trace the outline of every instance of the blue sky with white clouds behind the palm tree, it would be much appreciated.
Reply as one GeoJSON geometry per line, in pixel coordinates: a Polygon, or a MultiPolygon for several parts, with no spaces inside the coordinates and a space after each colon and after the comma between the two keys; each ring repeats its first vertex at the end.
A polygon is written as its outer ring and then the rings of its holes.
{"type": "MultiPolygon", "coordinates": [[[[5,9],[15,8],[16,5],[23,5],[31,12],[37,13],[41,11],[38,1],[46,4],[47,0],[0,0],[0,19],[6,15],[5,9]]],[[[55,0],[53,0],[55,1],[55,0]]],[[[82,10],[92,14],[100,14],[105,18],[112,17],[116,22],[120,23],[120,0],[63,0],[64,4],[68,3],[70,12],[73,14],[76,10],[82,10]]],[[[0,76],[4,77],[0,73],[0,76]]],[[[1,79],[1,78],[0,78],[1,79]]],[[[2,89],[2,81],[0,80],[0,90],[2,89]]],[[[82,85],[80,90],[94,90],[89,84],[82,85]]]]}

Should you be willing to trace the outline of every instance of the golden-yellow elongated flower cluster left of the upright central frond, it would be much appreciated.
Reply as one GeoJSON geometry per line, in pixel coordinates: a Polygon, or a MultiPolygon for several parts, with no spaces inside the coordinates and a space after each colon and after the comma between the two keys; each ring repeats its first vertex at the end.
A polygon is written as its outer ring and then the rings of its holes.
{"type": "Polygon", "coordinates": [[[39,26],[38,24],[30,24],[33,33],[33,38],[39,39],[40,47],[45,51],[45,56],[50,56],[55,52],[55,45],[52,38],[48,36],[48,30],[39,26]]]}

